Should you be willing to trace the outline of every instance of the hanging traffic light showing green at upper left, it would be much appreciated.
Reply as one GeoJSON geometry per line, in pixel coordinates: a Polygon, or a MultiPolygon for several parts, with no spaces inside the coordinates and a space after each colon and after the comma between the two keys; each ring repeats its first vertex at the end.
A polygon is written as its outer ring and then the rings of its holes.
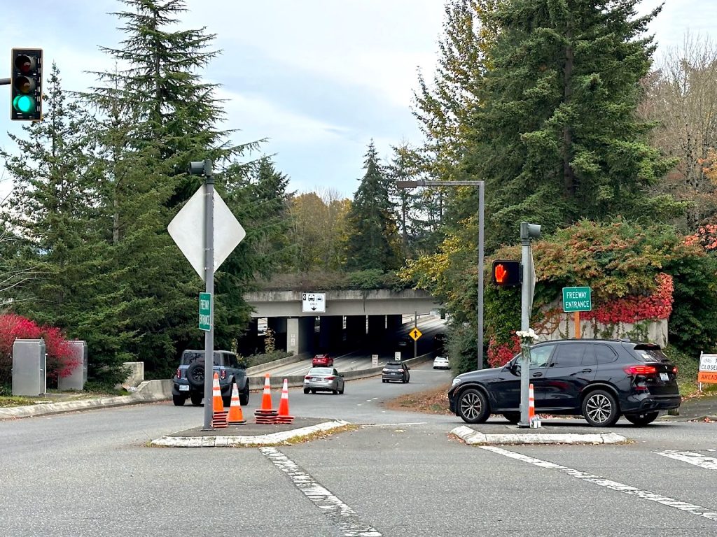
{"type": "Polygon", "coordinates": [[[12,49],[10,119],[42,119],[42,49],[12,49]]]}

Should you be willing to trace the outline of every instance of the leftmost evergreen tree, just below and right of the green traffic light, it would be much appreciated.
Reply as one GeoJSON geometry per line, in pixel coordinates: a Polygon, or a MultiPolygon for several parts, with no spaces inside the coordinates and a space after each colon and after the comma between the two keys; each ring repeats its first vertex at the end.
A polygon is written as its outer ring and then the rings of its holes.
{"type": "Polygon", "coordinates": [[[90,377],[107,369],[111,383],[133,334],[116,324],[113,311],[124,305],[106,276],[109,235],[100,225],[94,122],[62,90],[55,64],[43,101],[44,121],[24,127],[27,137],[9,135],[15,153],[0,152],[14,178],[3,213],[16,233],[9,259],[18,274],[32,275],[9,294],[20,314],[86,340],[90,377]]]}

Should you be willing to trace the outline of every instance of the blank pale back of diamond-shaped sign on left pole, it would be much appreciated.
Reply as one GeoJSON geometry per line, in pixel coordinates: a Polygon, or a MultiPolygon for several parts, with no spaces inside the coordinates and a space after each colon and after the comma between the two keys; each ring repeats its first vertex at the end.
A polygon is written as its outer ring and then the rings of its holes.
{"type": "MultiPolygon", "coordinates": [[[[204,197],[206,185],[201,185],[194,195],[189,198],[186,205],[181,208],[177,216],[169,223],[167,231],[169,236],[191,266],[196,274],[204,280],[204,197]]],[[[214,191],[214,271],[224,263],[229,253],[234,251],[237,244],[242,242],[247,232],[237,218],[229,210],[222,196],[214,191]]]]}

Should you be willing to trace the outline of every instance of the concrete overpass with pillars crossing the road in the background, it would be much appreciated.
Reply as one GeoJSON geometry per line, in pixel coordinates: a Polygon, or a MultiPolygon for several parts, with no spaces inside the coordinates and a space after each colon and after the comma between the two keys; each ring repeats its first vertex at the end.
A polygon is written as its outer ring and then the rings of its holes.
{"type": "Polygon", "coordinates": [[[441,308],[433,296],[415,289],[256,291],[244,294],[244,300],[254,311],[250,330],[240,342],[242,354],[263,347],[255,335],[257,320],[262,317],[267,318],[267,327],[275,334],[277,349],[315,354],[336,352],[339,347],[359,344],[366,338],[398,339],[404,315],[429,314],[441,308]],[[325,294],[326,311],[303,311],[304,292],[325,294]]]}

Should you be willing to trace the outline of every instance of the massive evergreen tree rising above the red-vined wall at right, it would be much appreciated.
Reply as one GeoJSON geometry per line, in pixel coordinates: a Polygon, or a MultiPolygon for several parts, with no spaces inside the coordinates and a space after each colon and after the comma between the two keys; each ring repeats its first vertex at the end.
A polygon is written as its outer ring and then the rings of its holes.
{"type": "Polygon", "coordinates": [[[668,218],[680,210],[648,188],[673,162],[637,118],[660,11],[639,0],[512,0],[500,5],[492,68],[481,84],[467,165],[486,180],[493,246],[521,220],[546,232],[579,218],[668,218]]]}

